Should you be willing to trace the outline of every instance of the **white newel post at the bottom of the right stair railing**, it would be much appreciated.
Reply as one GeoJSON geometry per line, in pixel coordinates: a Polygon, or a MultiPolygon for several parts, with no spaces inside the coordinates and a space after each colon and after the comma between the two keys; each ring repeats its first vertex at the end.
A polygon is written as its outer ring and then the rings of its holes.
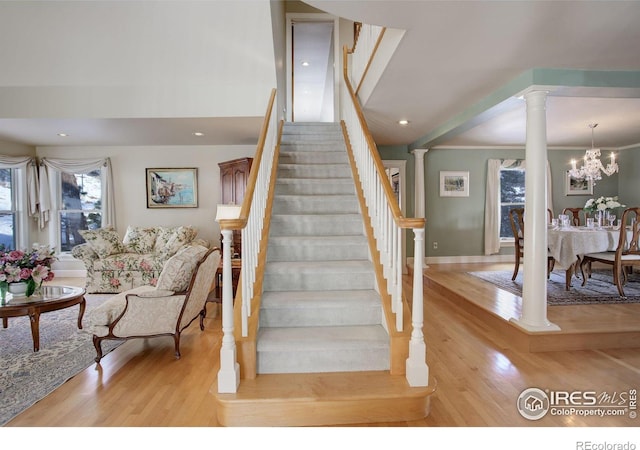
{"type": "Polygon", "coordinates": [[[427,366],[427,344],[424,342],[422,326],[424,324],[423,288],[422,288],[422,249],[424,248],[424,228],[414,228],[413,256],[413,307],[411,310],[411,340],[409,357],[406,363],[406,376],[409,386],[429,385],[429,366],[427,366]]]}

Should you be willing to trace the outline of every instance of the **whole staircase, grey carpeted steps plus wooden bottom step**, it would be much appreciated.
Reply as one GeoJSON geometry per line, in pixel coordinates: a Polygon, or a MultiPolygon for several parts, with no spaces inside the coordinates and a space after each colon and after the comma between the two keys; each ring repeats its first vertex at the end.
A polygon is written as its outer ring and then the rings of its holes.
{"type": "Polygon", "coordinates": [[[387,332],[365,229],[340,124],[285,124],[258,332],[243,350],[255,353],[256,375],[233,394],[212,388],[220,425],[391,423],[429,414],[435,386],[410,387],[404,375],[391,375],[398,361],[404,367],[408,334],[387,332]]]}

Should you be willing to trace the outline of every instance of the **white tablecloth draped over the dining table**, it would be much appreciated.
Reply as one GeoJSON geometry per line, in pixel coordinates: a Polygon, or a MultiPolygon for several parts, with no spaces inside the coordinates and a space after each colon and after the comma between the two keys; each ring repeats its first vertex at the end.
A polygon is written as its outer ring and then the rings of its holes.
{"type": "Polygon", "coordinates": [[[569,269],[579,256],[586,253],[615,251],[620,230],[586,227],[547,230],[549,254],[556,260],[555,268],[569,269]]]}

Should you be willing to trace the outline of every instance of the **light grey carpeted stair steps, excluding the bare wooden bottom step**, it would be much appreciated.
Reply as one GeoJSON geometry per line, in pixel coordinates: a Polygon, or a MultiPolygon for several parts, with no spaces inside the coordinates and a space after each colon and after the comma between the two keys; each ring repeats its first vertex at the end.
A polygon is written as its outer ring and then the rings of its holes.
{"type": "Polygon", "coordinates": [[[389,369],[389,336],[342,130],[285,124],[257,372],[389,369]]]}

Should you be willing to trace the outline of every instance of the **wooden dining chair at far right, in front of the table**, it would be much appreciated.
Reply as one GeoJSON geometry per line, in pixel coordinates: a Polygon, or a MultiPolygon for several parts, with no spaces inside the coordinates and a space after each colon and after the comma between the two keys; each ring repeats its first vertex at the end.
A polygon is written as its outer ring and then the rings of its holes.
{"type": "Polygon", "coordinates": [[[640,207],[627,208],[622,213],[620,236],[618,245],[613,252],[588,253],[582,257],[580,270],[582,272],[582,285],[587,284],[591,277],[591,265],[600,262],[611,265],[613,272],[613,284],[618,288],[620,297],[625,298],[623,286],[627,283],[628,270],[634,266],[640,266],[640,227],[638,217],[640,207]]]}

